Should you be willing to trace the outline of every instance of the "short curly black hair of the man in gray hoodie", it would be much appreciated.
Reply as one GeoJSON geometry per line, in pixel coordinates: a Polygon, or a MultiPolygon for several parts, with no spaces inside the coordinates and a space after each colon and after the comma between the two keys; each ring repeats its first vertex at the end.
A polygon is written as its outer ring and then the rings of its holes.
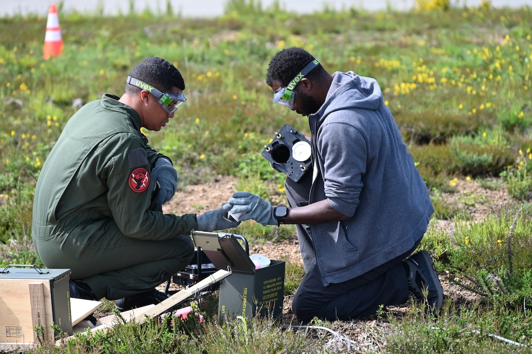
{"type": "MultiPolygon", "coordinates": [[[[288,85],[290,80],[313,60],[315,57],[300,47],[286,48],[277,52],[268,65],[266,84],[271,87],[273,81],[279,81],[282,86],[288,85]]],[[[318,67],[321,68],[321,64],[307,73],[305,77],[312,78],[313,73],[320,71],[319,69],[316,70],[318,67]]]]}

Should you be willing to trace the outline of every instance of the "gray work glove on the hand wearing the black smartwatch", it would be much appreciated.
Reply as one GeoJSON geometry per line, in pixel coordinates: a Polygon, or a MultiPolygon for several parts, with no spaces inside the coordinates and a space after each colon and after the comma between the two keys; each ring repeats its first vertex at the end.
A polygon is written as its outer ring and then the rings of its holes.
{"type": "Polygon", "coordinates": [[[232,205],[231,214],[245,213],[238,217],[240,221],[253,219],[262,226],[279,225],[273,214],[275,207],[258,195],[250,192],[235,192],[229,199],[229,204],[232,205]]]}

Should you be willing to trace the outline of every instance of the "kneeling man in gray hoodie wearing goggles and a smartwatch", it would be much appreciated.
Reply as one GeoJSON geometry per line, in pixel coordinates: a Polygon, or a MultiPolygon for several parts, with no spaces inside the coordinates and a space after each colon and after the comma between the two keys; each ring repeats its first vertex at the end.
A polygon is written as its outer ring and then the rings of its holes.
{"type": "Polygon", "coordinates": [[[436,313],[443,291],[418,248],[434,212],[423,179],[373,78],[330,75],[302,48],[278,52],[266,83],[273,102],[307,116],[313,168],[286,180],[290,207],[249,192],[231,213],[296,224],[306,275],[292,304],[300,320],[349,320],[414,298],[436,313]],[[409,257],[410,256],[410,257],[409,257]]]}

